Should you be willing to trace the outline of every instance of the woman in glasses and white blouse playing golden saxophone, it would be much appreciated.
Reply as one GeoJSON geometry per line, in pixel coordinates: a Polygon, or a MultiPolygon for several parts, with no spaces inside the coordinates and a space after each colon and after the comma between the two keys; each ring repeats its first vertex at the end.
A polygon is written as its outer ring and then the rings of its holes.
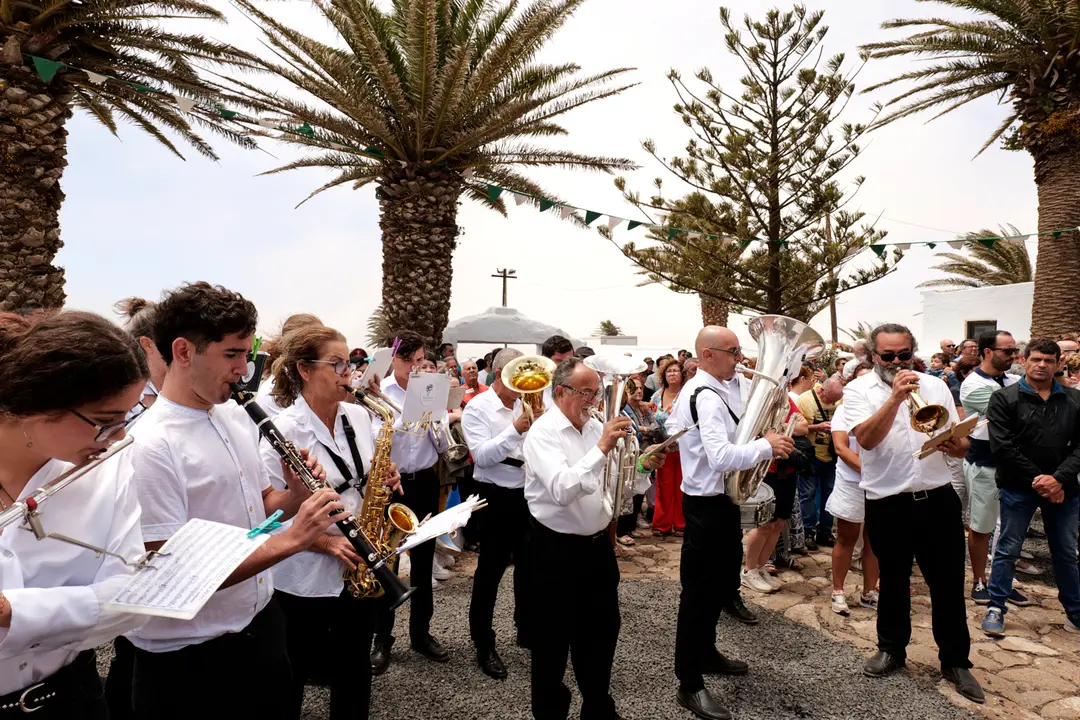
{"type": "MultiPolygon", "coordinates": [[[[352,365],[345,336],[309,325],[282,339],[273,369],[273,400],[282,408],[274,424],[297,447],[309,448],[326,470],[346,511],[359,516],[363,481],[370,470],[372,421],[353,404],[346,388],[352,365]]],[[[270,483],[284,488],[281,460],[266,443],[262,461],[270,483]]],[[[387,484],[397,488],[392,466],[387,484]]],[[[329,684],[330,718],[366,720],[372,696],[372,648],[378,600],[353,598],[342,571],[361,562],[334,527],[311,549],[274,566],[275,597],[286,616],[286,643],[293,667],[293,705],[286,717],[299,718],[308,680],[329,684]],[[342,650],[343,649],[343,650],[342,650]]]]}

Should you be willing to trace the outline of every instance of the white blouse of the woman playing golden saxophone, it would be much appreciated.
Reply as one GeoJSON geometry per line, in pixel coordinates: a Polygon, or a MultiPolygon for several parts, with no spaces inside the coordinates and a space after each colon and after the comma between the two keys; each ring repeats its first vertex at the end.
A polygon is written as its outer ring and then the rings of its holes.
{"type": "MultiPolygon", "coordinates": [[[[375,445],[372,441],[372,419],[367,410],[359,405],[339,403],[337,417],[334,420],[334,435],[323,424],[311,406],[300,395],[291,407],[281,411],[273,421],[281,434],[292,440],[298,448],[308,448],[309,452],[319,461],[326,471],[326,481],[330,487],[339,487],[345,483],[345,476],[338,470],[337,463],[330,458],[330,452],[345,462],[346,467],[352,474],[354,483],[360,483],[364,474],[370,468],[372,456],[375,454],[375,445]],[[356,451],[360,452],[362,467],[356,472],[356,464],[352,460],[352,450],[349,449],[349,440],[345,436],[345,424],[341,421],[343,416],[348,416],[353,431],[356,433],[356,451]]],[[[281,466],[281,456],[270,447],[269,443],[260,445],[259,452],[262,456],[262,464],[266,465],[267,474],[270,476],[270,485],[275,490],[287,490],[285,472],[281,466]]],[[[347,513],[355,516],[360,513],[363,498],[356,486],[343,490],[341,502],[345,504],[347,513]]],[[[278,532],[284,532],[292,520],[282,524],[278,532]]],[[[326,531],[332,535],[340,535],[341,531],[337,526],[330,526],[326,531]]],[[[336,557],[315,551],[303,551],[293,557],[285,558],[273,567],[274,589],[283,590],[291,595],[300,597],[337,597],[341,594],[343,586],[341,572],[345,566],[336,557]]]]}

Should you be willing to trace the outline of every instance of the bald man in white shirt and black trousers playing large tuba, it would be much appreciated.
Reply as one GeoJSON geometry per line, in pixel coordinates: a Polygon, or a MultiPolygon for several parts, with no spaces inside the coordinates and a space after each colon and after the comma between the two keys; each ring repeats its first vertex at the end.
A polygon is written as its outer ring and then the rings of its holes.
{"type": "Polygon", "coordinates": [[[738,424],[732,408],[742,408],[739,383],[731,382],[741,354],[734,332],[717,326],[703,328],[694,353],[698,372],[684,385],[666,423],[669,433],[692,427],[679,440],[686,536],[675,635],[676,699],[699,718],[727,720],[731,712],[713,698],[702,677],[747,670],[746,663],[716,650],[716,623],[721,609],[739,594],[742,567],[740,512],[725,494],[724,475],[786,458],[795,444],[774,432],[746,445],[731,443],[738,424]]]}

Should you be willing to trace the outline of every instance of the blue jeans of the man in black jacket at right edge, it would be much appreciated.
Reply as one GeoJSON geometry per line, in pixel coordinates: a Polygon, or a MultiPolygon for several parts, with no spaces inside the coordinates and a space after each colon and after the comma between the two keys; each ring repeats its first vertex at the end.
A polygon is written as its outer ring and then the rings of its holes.
{"type": "Polygon", "coordinates": [[[1057,599],[1069,617],[1080,617],[1080,574],[1077,570],[1077,519],[1080,498],[1052,503],[1034,490],[1001,488],[1001,536],[990,568],[990,606],[1007,611],[1016,560],[1024,544],[1035,508],[1042,510],[1042,522],[1050,543],[1050,558],[1057,582],[1057,599]]]}

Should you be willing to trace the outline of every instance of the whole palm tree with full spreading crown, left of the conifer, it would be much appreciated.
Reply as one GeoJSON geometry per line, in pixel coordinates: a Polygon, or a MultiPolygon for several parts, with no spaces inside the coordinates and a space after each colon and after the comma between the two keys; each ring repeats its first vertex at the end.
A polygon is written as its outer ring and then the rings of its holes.
{"type": "Polygon", "coordinates": [[[312,195],[377,186],[382,307],[395,330],[442,339],[462,195],[504,214],[505,198],[488,184],[532,203],[554,199],[522,167],[634,167],[531,144],[566,134],[558,116],[627,87],[609,85],[625,69],[581,77],[573,63],[536,60],[583,1],[535,0],[518,10],[497,0],[395,0],[382,11],[374,0],[316,0],[342,41],[332,46],[274,19],[262,3],[238,0],[274,52],[265,68],[318,100],[241,83],[260,109],[302,131],[282,139],[309,152],[271,172],[334,171],[312,195]]]}

